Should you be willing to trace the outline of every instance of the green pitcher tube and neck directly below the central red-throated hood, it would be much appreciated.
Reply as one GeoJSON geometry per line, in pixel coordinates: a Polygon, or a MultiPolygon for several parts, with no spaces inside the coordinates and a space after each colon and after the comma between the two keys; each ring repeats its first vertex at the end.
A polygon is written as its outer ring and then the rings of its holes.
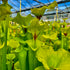
{"type": "MultiPolygon", "coordinates": [[[[34,40],[34,48],[36,48],[36,40],[34,40]]],[[[39,62],[36,58],[36,51],[33,51],[29,47],[29,70],[34,70],[38,66],[39,62]]]]}

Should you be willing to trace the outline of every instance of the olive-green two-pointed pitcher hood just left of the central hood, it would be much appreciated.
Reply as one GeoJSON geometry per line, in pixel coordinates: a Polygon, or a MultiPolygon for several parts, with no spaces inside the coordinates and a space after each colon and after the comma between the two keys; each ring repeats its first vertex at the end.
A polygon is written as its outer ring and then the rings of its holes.
{"type": "Polygon", "coordinates": [[[12,21],[14,21],[20,25],[23,25],[23,26],[28,26],[28,24],[32,18],[33,17],[30,14],[26,17],[23,17],[20,15],[20,13],[18,13],[17,16],[12,21]]]}

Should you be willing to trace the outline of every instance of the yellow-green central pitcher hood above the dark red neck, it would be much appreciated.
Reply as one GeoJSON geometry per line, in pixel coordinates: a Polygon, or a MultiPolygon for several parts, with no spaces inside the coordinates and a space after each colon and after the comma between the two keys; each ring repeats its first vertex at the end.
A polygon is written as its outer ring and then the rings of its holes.
{"type": "Polygon", "coordinates": [[[43,26],[40,25],[39,20],[37,18],[34,18],[31,21],[30,26],[28,27],[28,31],[31,32],[33,35],[34,35],[34,33],[39,34],[43,30],[42,27],[43,26]]]}

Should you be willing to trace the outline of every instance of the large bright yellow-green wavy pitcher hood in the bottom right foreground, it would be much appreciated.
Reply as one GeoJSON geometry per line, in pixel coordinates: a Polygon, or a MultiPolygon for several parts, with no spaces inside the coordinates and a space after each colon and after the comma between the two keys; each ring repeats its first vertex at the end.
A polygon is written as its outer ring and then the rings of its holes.
{"type": "Polygon", "coordinates": [[[36,57],[42,62],[46,70],[56,68],[63,70],[66,67],[69,69],[70,66],[70,55],[64,49],[54,51],[52,47],[43,47],[37,51],[36,57]]]}

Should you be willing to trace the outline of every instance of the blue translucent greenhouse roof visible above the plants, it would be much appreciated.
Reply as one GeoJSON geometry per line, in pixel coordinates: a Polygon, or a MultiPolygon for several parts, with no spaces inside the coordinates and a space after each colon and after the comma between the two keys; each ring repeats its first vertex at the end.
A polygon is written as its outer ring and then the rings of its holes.
{"type": "MultiPolygon", "coordinates": [[[[21,0],[21,9],[22,13],[26,15],[31,13],[31,8],[42,7],[43,5],[49,5],[54,0],[21,0]]],[[[70,12],[70,0],[55,0],[58,3],[59,13],[69,13],[70,12]]],[[[12,6],[11,11],[13,13],[20,11],[20,0],[8,0],[9,5],[12,6]]],[[[0,0],[0,4],[2,4],[2,0],[0,0]]],[[[45,14],[54,14],[55,9],[49,12],[45,12],[45,14]]]]}

